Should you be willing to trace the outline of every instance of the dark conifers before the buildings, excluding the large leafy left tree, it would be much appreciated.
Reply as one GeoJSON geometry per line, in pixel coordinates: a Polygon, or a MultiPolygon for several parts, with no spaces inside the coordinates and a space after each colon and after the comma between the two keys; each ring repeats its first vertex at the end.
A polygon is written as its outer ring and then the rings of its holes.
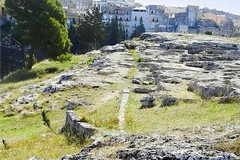
{"type": "Polygon", "coordinates": [[[73,21],[69,29],[69,37],[73,42],[71,51],[84,53],[104,45],[114,45],[126,39],[138,37],[143,32],[145,27],[142,18],[129,37],[124,24],[118,20],[117,16],[104,23],[103,14],[99,9],[92,8],[80,19],[78,25],[73,21]]]}

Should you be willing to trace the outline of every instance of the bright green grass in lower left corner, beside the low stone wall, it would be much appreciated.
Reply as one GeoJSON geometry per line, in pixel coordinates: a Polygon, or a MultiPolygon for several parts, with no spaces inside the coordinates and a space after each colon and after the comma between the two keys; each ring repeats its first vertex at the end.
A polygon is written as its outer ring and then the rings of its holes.
{"type": "MultiPolygon", "coordinates": [[[[51,126],[58,131],[64,125],[65,111],[49,113],[51,126]]],[[[28,159],[32,156],[59,159],[66,154],[77,153],[81,146],[68,145],[63,135],[54,135],[43,125],[41,115],[21,118],[0,115],[0,137],[9,146],[0,145],[2,159],[28,159]]]]}

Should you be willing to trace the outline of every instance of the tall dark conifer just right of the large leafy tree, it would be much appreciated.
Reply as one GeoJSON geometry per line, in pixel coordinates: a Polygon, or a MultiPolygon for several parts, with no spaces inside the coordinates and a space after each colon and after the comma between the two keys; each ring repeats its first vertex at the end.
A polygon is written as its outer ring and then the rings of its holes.
{"type": "Polygon", "coordinates": [[[80,45],[82,45],[82,50],[89,51],[101,47],[104,33],[102,13],[100,13],[98,8],[94,7],[83,16],[78,27],[78,38],[80,45]]]}

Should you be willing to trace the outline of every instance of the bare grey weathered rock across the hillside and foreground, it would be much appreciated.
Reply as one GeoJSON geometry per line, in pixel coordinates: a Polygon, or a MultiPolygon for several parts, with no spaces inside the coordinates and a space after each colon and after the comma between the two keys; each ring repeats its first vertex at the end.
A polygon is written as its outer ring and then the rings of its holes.
{"type": "MultiPolygon", "coordinates": [[[[73,66],[51,79],[45,85],[28,85],[19,89],[21,96],[11,102],[11,108],[24,106],[38,108],[38,98],[74,88],[88,86],[104,88],[124,82],[129,70],[136,64],[137,71],[130,92],[142,94],[142,108],[155,106],[155,97],[162,97],[162,107],[177,105],[180,100],[194,103],[200,98],[218,98],[219,103],[240,98],[240,44],[223,37],[144,33],[139,40],[124,41],[87,53],[94,59],[87,67],[73,66]],[[134,50],[136,63],[130,53],[134,50]]],[[[123,86],[125,89],[125,86],[123,86]]],[[[110,93],[110,95],[113,93],[110,93]]],[[[11,99],[11,92],[0,95],[0,103],[11,99]]],[[[66,99],[66,109],[91,102],[66,99]]],[[[54,104],[52,104],[54,106],[54,104]]],[[[239,160],[234,153],[214,148],[215,144],[240,137],[239,125],[211,125],[195,129],[174,129],[171,134],[153,133],[130,135],[113,132],[92,137],[93,143],[76,155],[77,159],[163,159],[163,160],[239,160]],[[219,128],[223,131],[219,132],[219,128]],[[99,138],[101,137],[101,138],[99,138]]]]}

